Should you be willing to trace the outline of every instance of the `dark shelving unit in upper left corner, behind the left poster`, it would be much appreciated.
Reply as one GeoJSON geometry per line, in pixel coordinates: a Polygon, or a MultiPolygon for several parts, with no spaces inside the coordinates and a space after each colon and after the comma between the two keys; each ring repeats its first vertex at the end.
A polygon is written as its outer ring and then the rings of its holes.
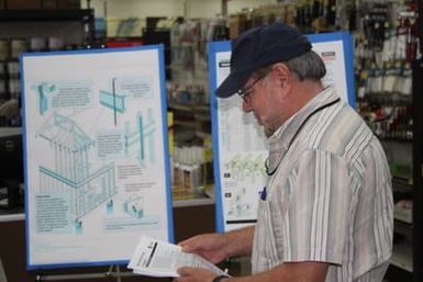
{"type": "Polygon", "coordinates": [[[1,125],[20,126],[20,53],[82,48],[93,40],[92,9],[0,10],[1,125]],[[8,102],[15,113],[5,116],[8,102]]]}

